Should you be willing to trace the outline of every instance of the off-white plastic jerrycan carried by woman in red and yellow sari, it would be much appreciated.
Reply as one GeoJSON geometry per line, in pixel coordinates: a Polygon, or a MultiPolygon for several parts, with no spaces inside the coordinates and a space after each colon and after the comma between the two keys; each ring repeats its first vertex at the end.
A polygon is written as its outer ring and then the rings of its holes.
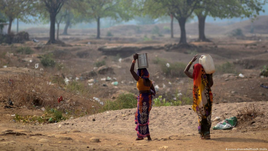
{"type": "Polygon", "coordinates": [[[210,55],[202,55],[199,59],[199,64],[204,67],[206,74],[212,74],[215,72],[214,62],[210,55]]]}

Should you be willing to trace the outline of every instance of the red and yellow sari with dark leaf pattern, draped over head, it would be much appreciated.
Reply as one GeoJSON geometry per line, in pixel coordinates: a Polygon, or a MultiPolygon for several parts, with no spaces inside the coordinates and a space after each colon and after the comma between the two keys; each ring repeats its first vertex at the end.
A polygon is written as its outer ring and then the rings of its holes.
{"type": "Polygon", "coordinates": [[[198,115],[198,132],[210,134],[213,95],[209,91],[207,75],[201,64],[193,66],[193,111],[198,115]]]}

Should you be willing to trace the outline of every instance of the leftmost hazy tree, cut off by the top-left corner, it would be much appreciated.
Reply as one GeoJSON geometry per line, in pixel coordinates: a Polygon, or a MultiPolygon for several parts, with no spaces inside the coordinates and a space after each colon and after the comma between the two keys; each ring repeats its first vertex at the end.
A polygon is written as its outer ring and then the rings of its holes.
{"type": "Polygon", "coordinates": [[[11,26],[14,19],[26,20],[32,11],[30,0],[1,0],[0,12],[8,19],[8,34],[11,33],[11,26]]]}

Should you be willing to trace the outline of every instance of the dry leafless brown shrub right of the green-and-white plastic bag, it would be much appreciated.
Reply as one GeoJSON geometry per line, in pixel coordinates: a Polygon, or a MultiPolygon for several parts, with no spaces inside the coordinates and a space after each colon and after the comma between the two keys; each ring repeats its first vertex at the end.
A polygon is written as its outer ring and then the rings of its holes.
{"type": "Polygon", "coordinates": [[[258,109],[258,105],[250,104],[243,107],[236,107],[237,119],[239,125],[251,125],[255,123],[254,119],[257,116],[263,116],[264,114],[258,109]]]}

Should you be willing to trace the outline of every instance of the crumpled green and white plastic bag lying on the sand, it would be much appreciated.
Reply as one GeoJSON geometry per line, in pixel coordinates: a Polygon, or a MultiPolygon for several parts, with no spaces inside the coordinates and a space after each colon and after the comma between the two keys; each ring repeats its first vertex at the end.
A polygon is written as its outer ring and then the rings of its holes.
{"type": "Polygon", "coordinates": [[[237,118],[235,116],[226,118],[213,127],[213,130],[230,130],[235,127],[237,118]]]}

